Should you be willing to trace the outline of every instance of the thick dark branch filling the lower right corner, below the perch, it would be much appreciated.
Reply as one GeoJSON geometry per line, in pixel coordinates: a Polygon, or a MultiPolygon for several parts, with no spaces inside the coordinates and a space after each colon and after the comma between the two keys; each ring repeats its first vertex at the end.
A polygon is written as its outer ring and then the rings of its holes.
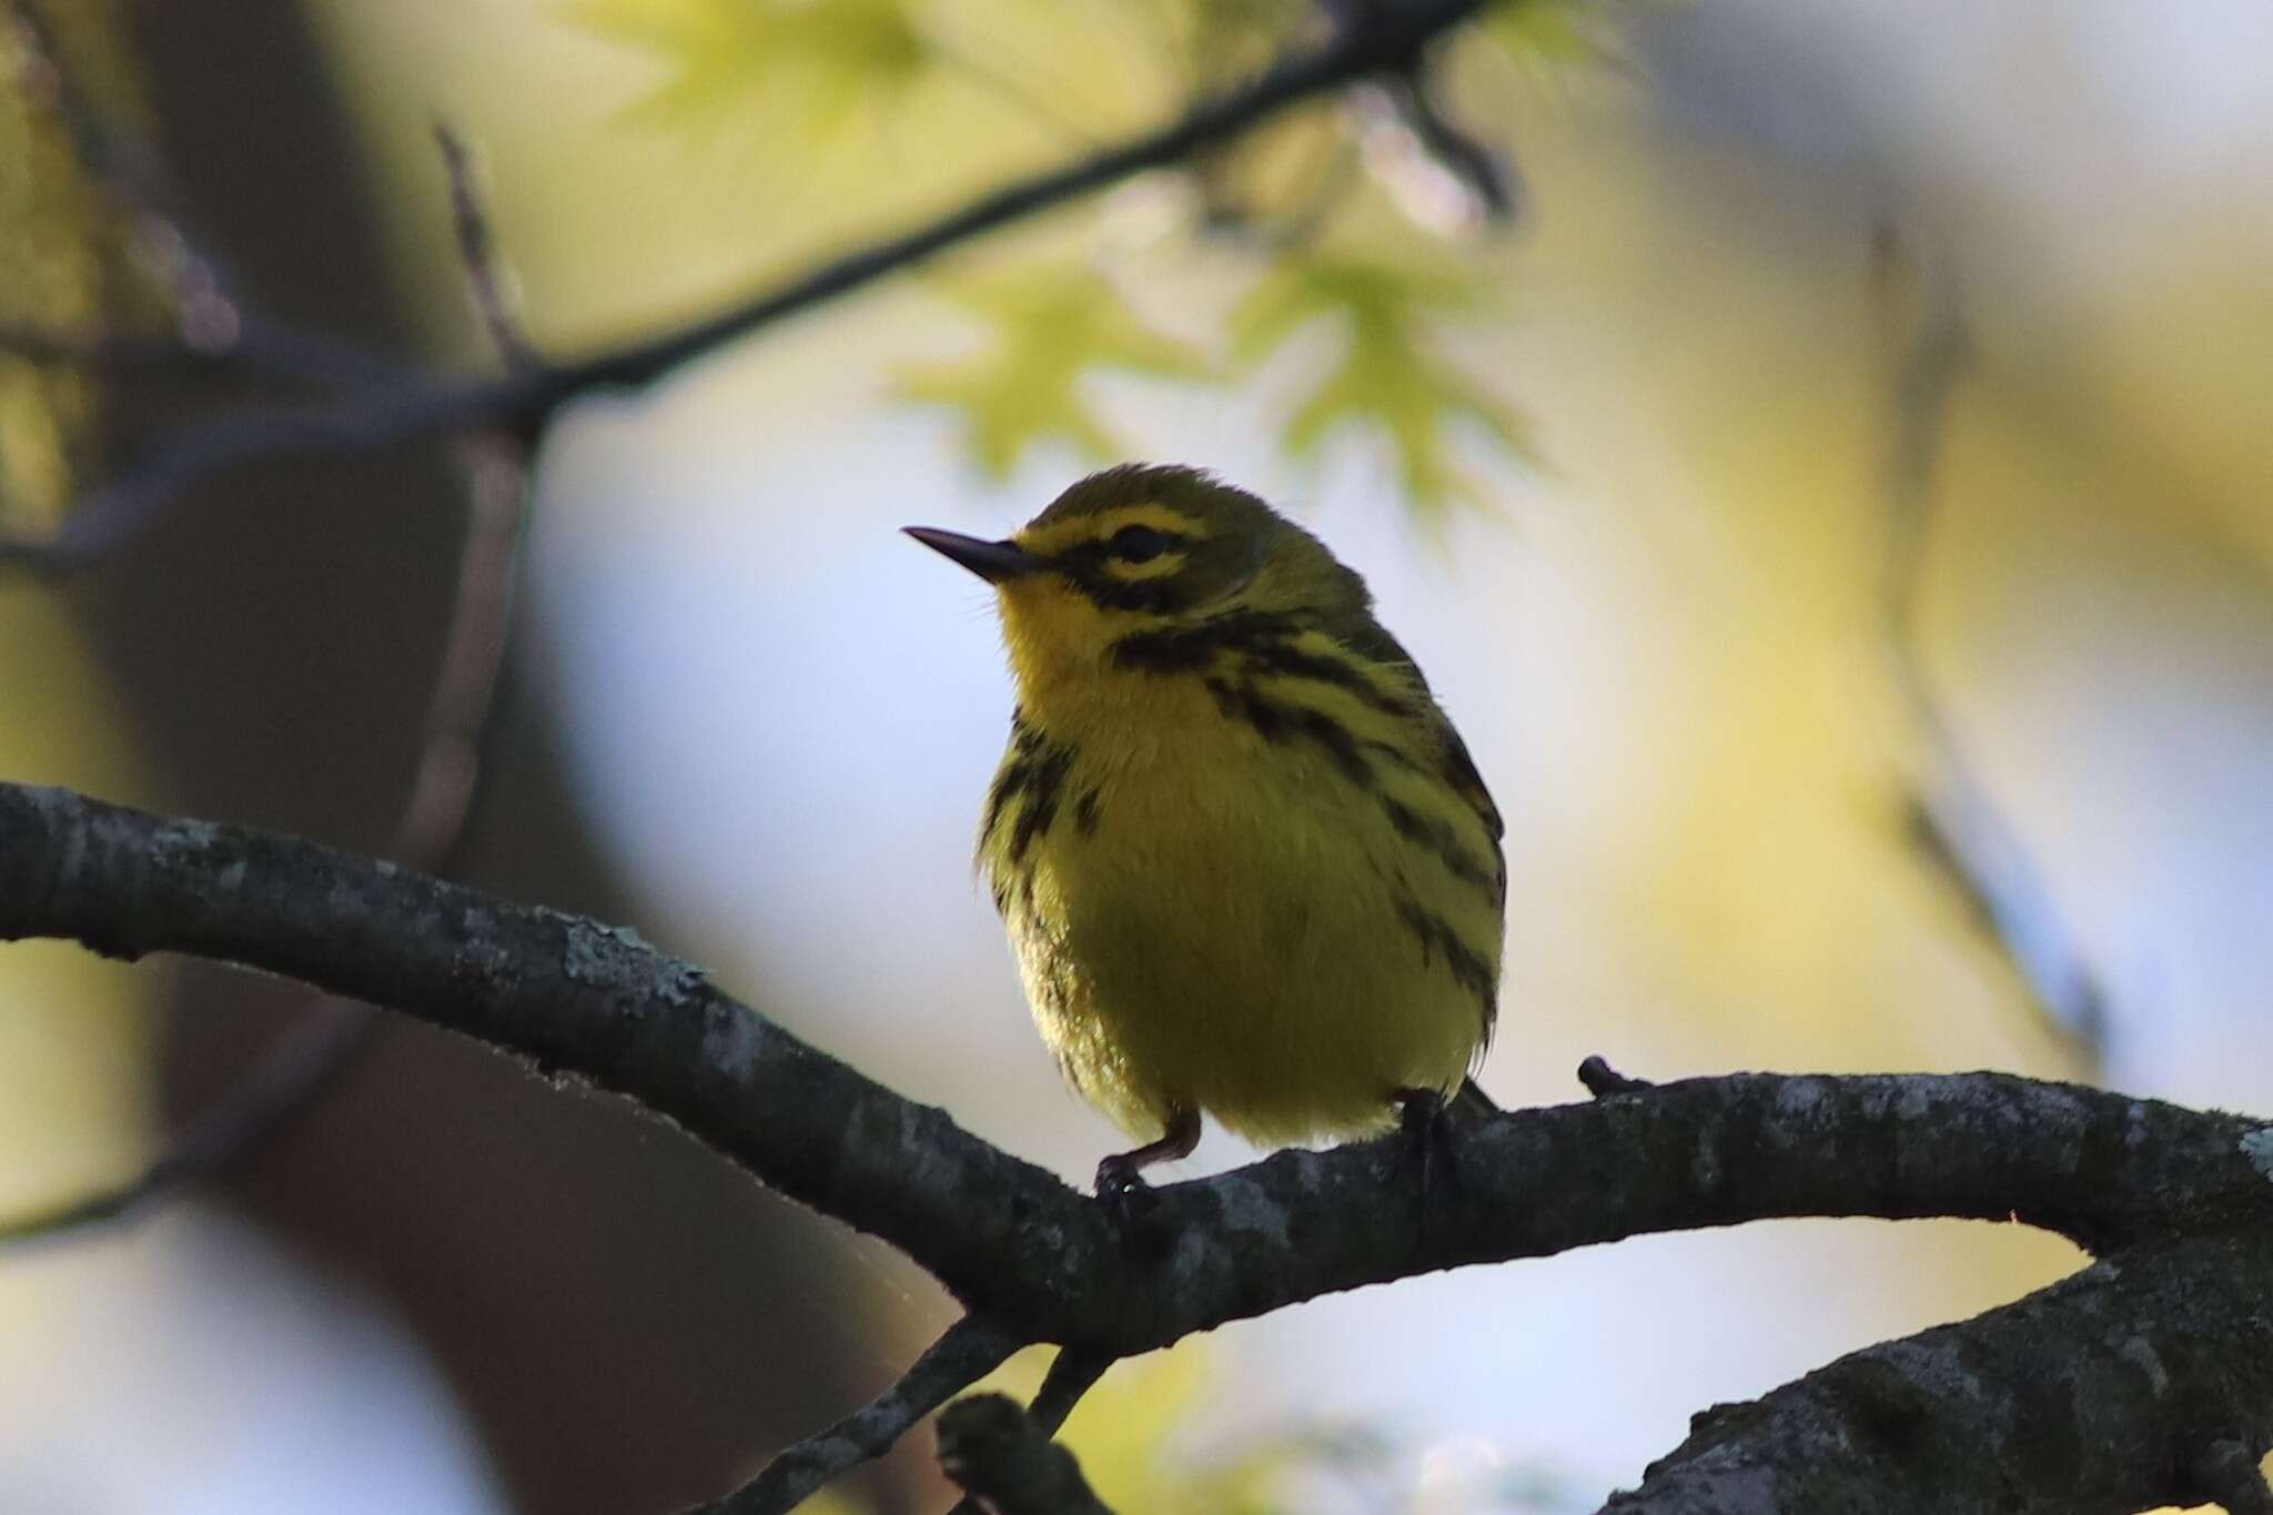
{"type": "Polygon", "coordinates": [[[2193,1504],[2216,1492],[2184,1456],[2203,1424],[2246,1406],[2253,1442],[2273,1436],[2268,1290],[2264,1236],[2139,1245],[2016,1304],[1705,1411],[1605,1515],[2193,1504]],[[2223,1333],[2253,1317],[2243,1338],[2223,1333]]]}

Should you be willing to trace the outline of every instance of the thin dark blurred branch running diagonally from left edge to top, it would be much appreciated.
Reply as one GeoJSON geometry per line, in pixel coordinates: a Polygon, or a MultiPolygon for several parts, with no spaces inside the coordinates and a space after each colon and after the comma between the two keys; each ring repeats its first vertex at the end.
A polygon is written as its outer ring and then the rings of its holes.
{"type": "Polygon", "coordinates": [[[68,572],[118,550],[182,495],[223,472],[275,459],[339,457],[452,436],[473,429],[541,429],[564,404],[616,386],[648,384],[736,336],[784,320],[884,275],[914,268],[948,248],[1166,168],[1291,104],[1375,75],[1412,75],[1430,43],[1484,9],[1487,0],[1407,0],[1368,5],[1327,41],[1289,55],[1255,82],[1202,100],[1173,123],[1089,152],[1061,168],[1016,179],[784,284],[750,295],[707,320],[627,348],[493,379],[411,379],[366,386],[327,402],[243,407],[191,420],[157,441],[118,477],[82,495],[55,536],[0,541],[0,561],[68,572]]]}

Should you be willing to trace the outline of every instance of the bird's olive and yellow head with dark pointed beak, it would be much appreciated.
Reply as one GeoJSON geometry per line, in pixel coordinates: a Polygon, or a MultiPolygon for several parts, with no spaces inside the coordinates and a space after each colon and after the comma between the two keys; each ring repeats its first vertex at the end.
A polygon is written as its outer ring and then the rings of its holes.
{"type": "Polygon", "coordinates": [[[1002,541],[907,527],[996,586],[1021,686],[1089,677],[1143,631],[1232,611],[1364,618],[1364,579],[1268,504],[1196,468],[1096,472],[1002,541]]]}

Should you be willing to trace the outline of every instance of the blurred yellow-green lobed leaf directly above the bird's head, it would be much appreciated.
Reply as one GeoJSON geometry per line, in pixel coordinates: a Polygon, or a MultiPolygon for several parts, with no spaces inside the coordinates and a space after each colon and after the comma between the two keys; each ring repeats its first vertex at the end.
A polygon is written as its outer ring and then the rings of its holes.
{"type": "Polygon", "coordinates": [[[986,323],[991,341],[968,359],[902,368],[896,391],[957,411],[973,457],[996,477],[1046,438],[1066,438],[1096,459],[1121,452],[1082,397],[1082,379],[1096,368],[1175,379],[1212,373],[1205,354],[1139,320],[1111,279],[1091,268],[1014,268],[941,288],[986,323]]]}

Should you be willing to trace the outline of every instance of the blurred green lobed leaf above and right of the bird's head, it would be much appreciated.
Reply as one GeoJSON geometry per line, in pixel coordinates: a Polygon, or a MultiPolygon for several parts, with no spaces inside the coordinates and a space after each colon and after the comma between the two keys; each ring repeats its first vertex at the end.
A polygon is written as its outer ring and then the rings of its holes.
{"type": "Polygon", "coordinates": [[[1307,257],[1262,277],[1232,313],[1232,352],[1257,366],[1289,336],[1332,320],[1339,361],[1287,422],[1287,450],[1312,457],[1343,425],[1380,429],[1396,447],[1418,507],[1482,502],[1475,479],[1448,457],[1448,422],[1482,427],[1507,452],[1534,461],[1530,425],[1439,350],[1437,323],[1473,316],[1489,284],[1391,261],[1307,257]]]}

